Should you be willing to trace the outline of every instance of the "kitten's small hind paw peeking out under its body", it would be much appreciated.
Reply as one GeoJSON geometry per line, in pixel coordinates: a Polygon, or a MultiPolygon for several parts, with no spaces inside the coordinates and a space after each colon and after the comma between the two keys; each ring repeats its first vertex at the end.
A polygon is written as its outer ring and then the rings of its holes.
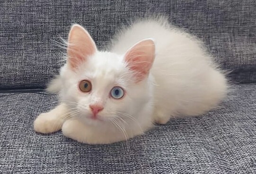
{"type": "Polygon", "coordinates": [[[154,117],[155,123],[167,124],[171,116],[168,114],[168,112],[165,109],[161,107],[155,107],[153,117],[154,117]]]}

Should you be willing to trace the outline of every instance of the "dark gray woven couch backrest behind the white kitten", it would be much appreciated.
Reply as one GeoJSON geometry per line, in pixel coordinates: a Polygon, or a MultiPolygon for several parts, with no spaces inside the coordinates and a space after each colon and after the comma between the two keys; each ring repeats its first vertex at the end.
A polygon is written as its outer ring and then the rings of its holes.
{"type": "Polygon", "coordinates": [[[2,0],[0,88],[43,88],[58,73],[72,23],[99,49],[131,18],[162,14],[201,38],[237,82],[256,82],[255,0],[2,0]]]}

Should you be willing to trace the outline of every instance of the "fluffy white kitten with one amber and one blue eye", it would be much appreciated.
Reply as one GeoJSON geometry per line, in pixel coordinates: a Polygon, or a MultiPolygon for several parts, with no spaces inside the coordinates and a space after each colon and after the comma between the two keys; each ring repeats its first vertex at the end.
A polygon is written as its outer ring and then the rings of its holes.
{"type": "Polygon", "coordinates": [[[217,106],[227,81],[193,36],[164,20],[144,20],[99,51],[73,25],[67,63],[49,89],[61,104],[35,119],[34,129],[85,143],[112,143],[142,134],[153,122],[195,116],[217,106]],[[152,39],[149,39],[152,38],[152,39]]]}

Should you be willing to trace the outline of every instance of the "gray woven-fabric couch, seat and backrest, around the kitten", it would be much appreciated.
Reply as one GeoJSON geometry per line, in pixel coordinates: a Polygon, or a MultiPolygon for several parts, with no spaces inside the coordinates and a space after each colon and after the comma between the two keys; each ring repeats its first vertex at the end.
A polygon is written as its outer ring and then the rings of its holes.
{"type": "Polygon", "coordinates": [[[256,1],[0,1],[0,173],[256,173],[256,1]],[[71,24],[104,49],[130,19],[153,14],[198,36],[230,72],[233,90],[220,108],[109,145],[33,131],[35,117],[57,105],[44,88],[65,51],[54,41],[71,24]]]}

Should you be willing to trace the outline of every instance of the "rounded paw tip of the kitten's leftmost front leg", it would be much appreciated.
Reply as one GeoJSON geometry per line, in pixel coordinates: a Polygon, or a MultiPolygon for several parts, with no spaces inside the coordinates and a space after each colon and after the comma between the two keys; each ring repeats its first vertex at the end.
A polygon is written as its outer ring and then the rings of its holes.
{"type": "Polygon", "coordinates": [[[53,133],[61,129],[62,121],[52,113],[42,113],[34,121],[34,130],[38,133],[53,133]]]}

